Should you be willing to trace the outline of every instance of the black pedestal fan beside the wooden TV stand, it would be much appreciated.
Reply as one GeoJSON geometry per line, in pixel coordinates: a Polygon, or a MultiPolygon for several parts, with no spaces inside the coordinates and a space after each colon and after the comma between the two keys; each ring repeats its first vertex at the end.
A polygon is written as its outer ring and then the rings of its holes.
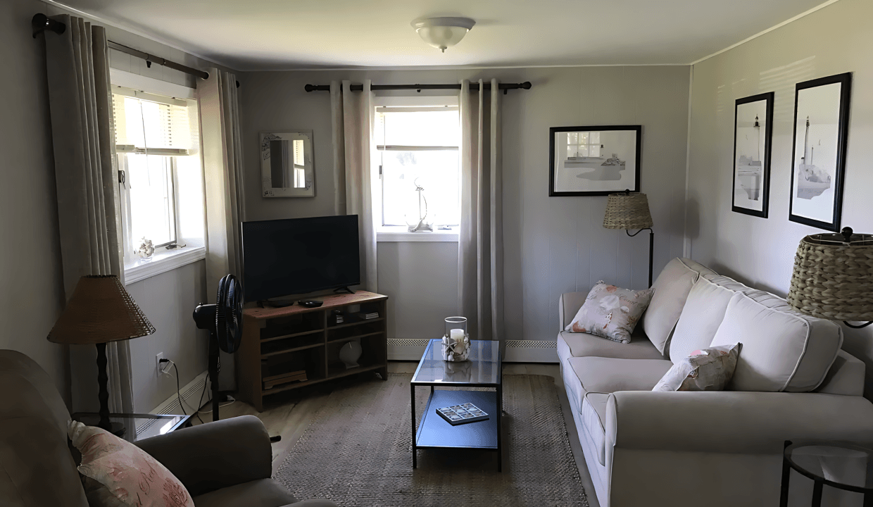
{"type": "Polygon", "coordinates": [[[210,330],[210,383],[212,384],[212,421],[218,421],[218,350],[235,353],[243,338],[243,284],[233,275],[218,282],[215,305],[197,305],[194,322],[199,329],[210,330]]]}

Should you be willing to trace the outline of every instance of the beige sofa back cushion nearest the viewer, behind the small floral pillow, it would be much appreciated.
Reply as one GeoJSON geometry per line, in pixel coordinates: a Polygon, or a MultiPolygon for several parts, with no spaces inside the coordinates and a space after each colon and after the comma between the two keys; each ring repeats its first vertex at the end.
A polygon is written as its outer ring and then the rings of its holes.
{"type": "Polygon", "coordinates": [[[711,346],[743,344],[729,388],[803,393],[821,384],[842,346],[838,325],[764,291],[737,292],[711,346]]]}

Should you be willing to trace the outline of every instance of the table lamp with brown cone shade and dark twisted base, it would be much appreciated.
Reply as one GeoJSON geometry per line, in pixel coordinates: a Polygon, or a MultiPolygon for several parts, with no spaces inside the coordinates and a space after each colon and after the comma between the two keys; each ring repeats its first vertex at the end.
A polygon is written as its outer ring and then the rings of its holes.
{"type": "Polygon", "coordinates": [[[115,275],[79,278],[64,312],[55,322],[48,339],[54,343],[97,346],[97,382],[100,385],[100,422],[98,427],[123,434],[120,424],[109,421],[107,390],[107,343],[139,338],[155,332],[134,299],[115,275]]]}

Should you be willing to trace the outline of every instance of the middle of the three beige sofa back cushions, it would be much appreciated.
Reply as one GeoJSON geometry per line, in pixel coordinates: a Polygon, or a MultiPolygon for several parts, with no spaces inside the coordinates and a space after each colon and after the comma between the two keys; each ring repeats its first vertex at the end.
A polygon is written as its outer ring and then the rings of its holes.
{"type": "MultiPolygon", "coordinates": [[[[715,278],[731,280],[727,277],[715,278]]],[[[705,349],[711,344],[733,294],[734,291],[724,285],[704,277],[700,277],[691,287],[676,331],[670,339],[670,360],[674,364],[687,359],[692,351],[705,349]]]]}

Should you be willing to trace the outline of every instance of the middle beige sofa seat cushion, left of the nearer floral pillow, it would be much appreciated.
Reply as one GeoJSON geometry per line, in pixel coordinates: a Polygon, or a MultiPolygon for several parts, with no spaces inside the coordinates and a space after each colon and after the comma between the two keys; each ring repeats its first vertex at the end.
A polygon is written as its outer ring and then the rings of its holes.
{"type": "MultiPolygon", "coordinates": [[[[567,360],[585,393],[651,391],[673,366],[670,360],[570,358],[567,360]]],[[[579,406],[581,407],[581,400],[579,406]]]]}

